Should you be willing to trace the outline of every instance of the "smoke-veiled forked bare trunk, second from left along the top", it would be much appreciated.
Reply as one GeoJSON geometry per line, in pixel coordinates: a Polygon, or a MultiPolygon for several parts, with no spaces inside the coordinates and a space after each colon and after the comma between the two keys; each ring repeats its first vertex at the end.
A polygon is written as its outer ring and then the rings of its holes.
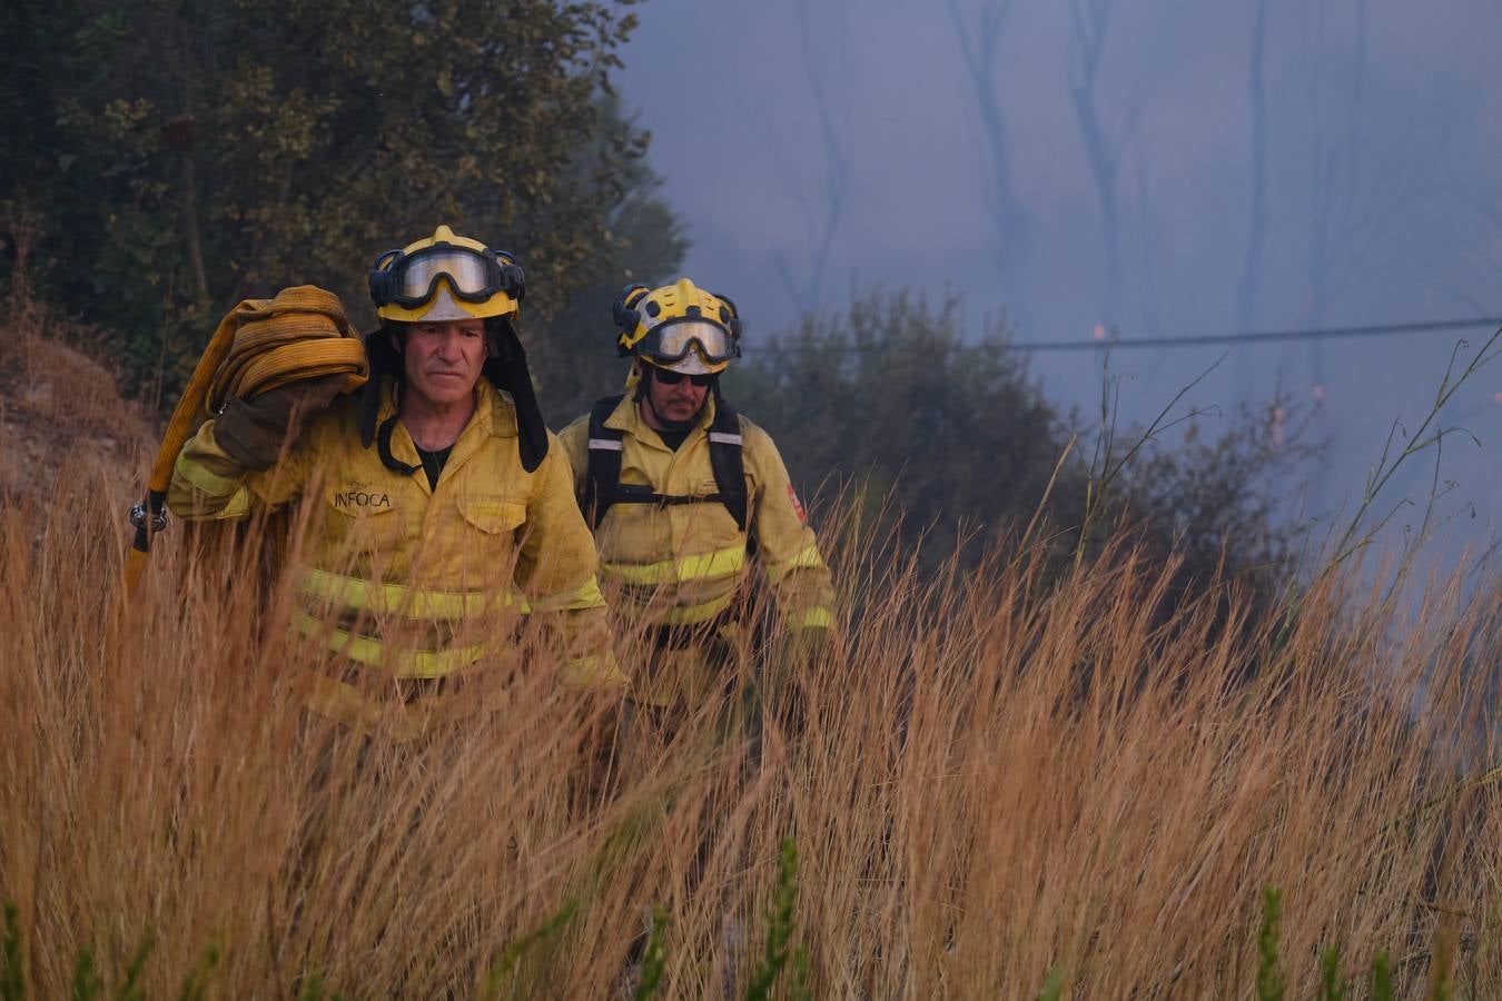
{"type": "Polygon", "coordinates": [[[996,231],[997,275],[1002,293],[1008,296],[1014,291],[1009,285],[1024,257],[1029,230],[1027,210],[1017,195],[1017,182],[1012,177],[1011,137],[996,81],[1002,27],[1011,14],[1012,0],[981,3],[973,23],[961,14],[957,0],[946,0],[946,5],[979,111],[981,140],[985,147],[985,183],[981,198],[996,231]]]}

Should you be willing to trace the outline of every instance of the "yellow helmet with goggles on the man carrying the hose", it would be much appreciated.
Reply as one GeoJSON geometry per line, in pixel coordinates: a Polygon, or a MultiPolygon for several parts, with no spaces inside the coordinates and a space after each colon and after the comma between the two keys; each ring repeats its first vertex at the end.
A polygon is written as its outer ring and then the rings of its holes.
{"type": "Polygon", "coordinates": [[[386,251],[371,267],[376,314],[398,323],[517,317],[524,290],[517,258],[449,227],[386,251]]]}

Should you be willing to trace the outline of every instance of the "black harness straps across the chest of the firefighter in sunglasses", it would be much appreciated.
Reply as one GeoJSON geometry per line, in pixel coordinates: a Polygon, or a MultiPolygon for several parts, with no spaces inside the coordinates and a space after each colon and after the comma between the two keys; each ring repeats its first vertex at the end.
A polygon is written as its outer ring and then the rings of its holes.
{"type": "Polygon", "coordinates": [[[709,464],[715,471],[716,492],[703,497],[658,494],[640,483],[620,482],[620,459],[625,449],[623,431],[607,428],[605,420],[620,405],[623,396],[608,396],[589,411],[589,474],[580,506],[592,528],[599,528],[611,504],[722,504],[736,527],[746,530],[746,474],[740,455],[740,419],[730,404],[715,401],[715,420],[709,425],[709,464]]]}

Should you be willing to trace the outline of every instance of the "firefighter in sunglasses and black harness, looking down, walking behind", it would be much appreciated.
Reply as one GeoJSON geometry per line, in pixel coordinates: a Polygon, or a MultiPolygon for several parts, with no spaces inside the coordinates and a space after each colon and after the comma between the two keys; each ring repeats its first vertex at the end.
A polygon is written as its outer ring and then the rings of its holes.
{"type": "Polygon", "coordinates": [[[685,278],[626,288],[613,312],[617,351],[634,359],[628,393],[559,437],[616,611],[649,632],[632,699],[692,707],[724,686],[746,636],[753,563],[801,651],[832,624],[829,569],[771,435],[719,393],[740,354],[734,305],[685,278]]]}

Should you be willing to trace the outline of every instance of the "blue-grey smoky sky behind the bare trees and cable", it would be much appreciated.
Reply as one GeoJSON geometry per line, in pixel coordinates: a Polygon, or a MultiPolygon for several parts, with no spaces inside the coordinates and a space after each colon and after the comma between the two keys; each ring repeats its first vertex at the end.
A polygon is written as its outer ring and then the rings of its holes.
{"type": "MultiPolygon", "coordinates": [[[[622,96],[694,242],[685,269],[742,306],[754,339],[873,284],[960,293],[973,329],[1006,308],[1021,341],[1242,329],[1251,233],[1248,69],[1257,0],[1090,0],[1110,12],[1089,92],[1114,164],[1116,293],[1071,68],[1071,3],[649,0],[622,96]],[[1102,6],[1104,5],[1104,6],[1102,6]],[[988,146],[952,14],[972,44],[1006,6],[990,93],[1026,215],[1012,266],[987,212],[988,146]],[[820,108],[825,110],[822,128],[820,108]],[[846,170],[832,170],[832,164],[846,170]],[[840,180],[843,177],[843,182],[840,180]],[[823,258],[832,195],[843,198],[823,258]],[[813,285],[813,276],[822,281],[813,285]],[[1114,305],[1113,305],[1114,303],[1114,305]]],[[[1502,3],[1268,0],[1262,278],[1250,326],[1502,317],[1502,3]]],[[[1472,332],[1472,341],[1487,330],[1472,332]]],[[[1422,416],[1457,335],[1236,348],[1199,405],[1314,407],[1334,504],[1391,422],[1422,416]]],[[[1217,350],[1117,353],[1130,414],[1157,411],[1217,350]]],[[[1062,404],[1099,359],[1039,354],[1062,404]]],[[[1502,362],[1449,408],[1481,450],[1446,455],[1451,500],[1502,507],[1502,362]]],[[[1406,483],[1422,491],[1425,477],[1406,483]]]]}

